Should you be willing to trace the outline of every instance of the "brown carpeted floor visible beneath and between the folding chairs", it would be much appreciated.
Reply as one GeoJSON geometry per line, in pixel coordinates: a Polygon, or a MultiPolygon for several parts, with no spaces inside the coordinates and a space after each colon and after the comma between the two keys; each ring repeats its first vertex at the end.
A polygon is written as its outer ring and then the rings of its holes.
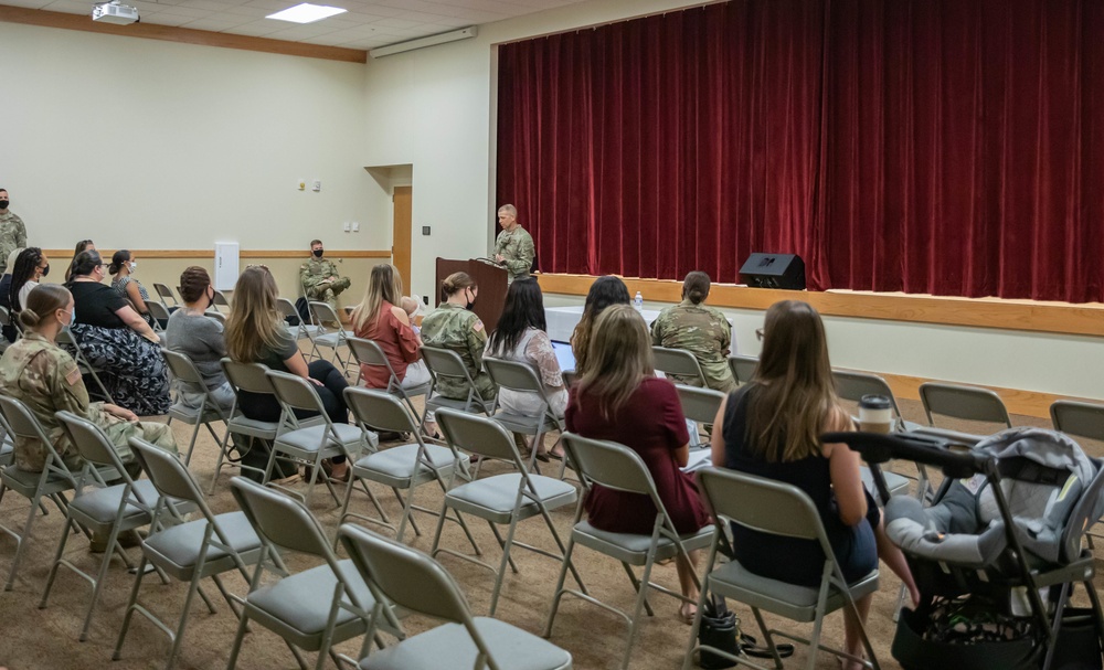
{"type": "MultiPolygon", "coordinates": [[[[923,419],[919,403],[903,402],[902,410],[907,418],[923,419]]],[[[1047,425],[1045,422],[1030,417],[1013,417],[1017,425],[1047,425]]],[[[956,427],[949,424],[947,427],[956,427]]],[[[178,442],[187,445],[190,426],[176,425],[178,442]]],[[[1100,445],[1093,445],[1090,451],[1102,455],[1100,445]]],[[[201,435],[192,470],[205,487],[214,468],[214,442],[208,435],[201,435]]],[[[229,475],[220,478],[215,494],[209,503],[215,512],[234,509],[229,491],[229,475]]],[[[386,492],[376,489],[388,512],[397,517],[399,503],[386,492]]],[[[442,500],[440,491],[434,486],[425,486],[417,490],[421,504],[437,508],[442,500]]],[[[332,533],[337,523],[337,509],[325,491],[316,490],[311,509],[323,527],[332,533]]],[[[361,496],[353,502],[353,509],[372,513],[367,499],[361,496]]],[[[9,493],[0,504],[0,522],[7,525],[21,524],[25,519],[28,507],[25,500],[9,493]]],[[[554,512],[554,521],[562,538],[566,538],[573,510],[563,509],[554,512]]],[[[421,515],[422,535],[415,538],[407,532],[408,541],[416,547],[428,550],[432,542],[434,519],[421,515]]],[[[50,562],[56,549],[62,529],[62,515],[51,510],[47,517],[40,517],[31,538],[26,560],[20,570],[14,589],[0,593],[0,664],[11,670],[30,669],[68,669],[68,668],[112,668],[117,670],[145,670],[161,668],[169,649],[168,639],[148,621],[136,617],[130,629],[123,659],[112,662],[112,650],[118,635],[123,614],[126,607],[132,576],[129,575],[117,559],[107,578],[107,586],[97,606],[93,620],[91,639],[77,641],[77,632],[87,606],[91,588],[68,571],[59,575],[50,606],[39,609],[39,600],[49,572],[50,562]]],[[[465,550],[466,543],[454,524],[446,527],[443,545],[456,550],[465,550]],[[449,528],[453,527],[453,528],[449,528]]],[[[485,554],[496,562],[498,556],[493,536],[486,524],[473,522],[471,529],[481,544],[485,554]]],[[[552,547],[552,541],[540,519],[531,519],[519,527],[518,539],[523,542],[552,547]]],[[[13,543],[10,538],[0,538],[0,575],[7,576],[10,560],[13,554],[13,543]]],[[[131,555],[138,555],[138,549],[130,550],[131,555]]],[[[73,536],[68,543],[66,556],[93,570],[98,565],[99,554],[88,553],[88,543],[83,536],[73,536]]],[[[520,626],[526,630],[540,634],[553,594],[559,562],[532,554],[516,551],[519,574],[509,574],[502,589],[502,596],[497,613],[498,618],[520,626]]],[[[577,565],[584,581],[593,593],[615,605],[630,606],[633,589],[622,567],[613,560],[580,549],[576,552],[577,565]]],[[[315,560],[293,556],[288,561],[293,570],[317,564],[315,560]]],[[[443,556],[442,563],[456,577],[466,593],[473,609],[477,615],[487,613],[490,592],[493,585],[491,574],[467,562],[443,556]]],[[[673,565],[659,566],[654,578],[678,588],[678,579],[673,565]]],[[[227,575],[226,584],[232,592],[244,594],[246,583],[236,574],[227,575]]],[[[898,579],[883,570],[881,589],[875,595],[870,614],[869,631],[874,648],[883,668],[898,668],[890,655],[890,644],[893,638],[894,623],[892,608],[896,602],[898,579]]],[[[217,594],[213,585],[208,587],[212,598],[217,594]]],[[[157,579],[146,579],[140,600],[153,611],[162,614],[171,626],[176,625],[184,595],[184,585],[171,583],[161,585],[157,579]]],[[[689,641],[690,628],[681,624],[677,617],[677,602],[662,595],[654,595],[651,603],[656,616],[644,621],[634,644],[633,668],[680,668],[689,641]]],[[[224,668],[229,650],[236,629],[236,620],[225,603],[216,602],[219,608],[214,615],[209,614],[202,603],[193,604],[192,618],[185,634],[183,651],[178,668],[224,668]]],[[[735,611],[741,617],[745,629],[752,635],[758,635],[751,611],[741,605],[735,605],[735,611]]],[[[808,635],[810,626],[793,625],[788,621],[774,620],[781,627],[808,635]]],[[[410,617],[404,625],[408,631],[416,632],[432,624],[421,617],[410,617]]],[[[574,657],[576,668],[598,669],[615,668],[620,659],[625,645],[626,626],[615,616],[592,605],[575,599],[565,599],[556,619],[552,641],[567,649],[574,657]]],[[[839,645],[842,639],[842,617],[834,615],[825,626],[824,640],[829,645],[839,645]]],[[[354,640],[339,646],[339,650],[355,655],[360,641],[354,640]]],[[[308,655],[308,658],[310,656],[308,655]]],[[[798,649],[794,658],[786,661],[787,668],[804,667],[804,649],[798,649]]],[[[332,663],[330,663],[332,666],[332,663]]],[[[284,644],[272,632],[254,627],[246,636],[241,659],[237,663],[242,669],[275,669],[295,668],[295,660],[284,644]]],[[[838,664],[834,657],[820,655],[817,668],[835,669],[838,664]]]]}

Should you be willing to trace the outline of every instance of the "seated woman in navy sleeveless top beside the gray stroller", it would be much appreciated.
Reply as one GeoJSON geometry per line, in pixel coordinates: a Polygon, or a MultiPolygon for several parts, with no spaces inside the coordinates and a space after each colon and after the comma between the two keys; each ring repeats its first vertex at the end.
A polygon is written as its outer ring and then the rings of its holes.
{"type": "MultiPolygon", "coordinates": [[[[755,376],[716,413],[714,425],[722,429],[713,430],[713,465],[802,489],[820,512],[845,578],[867,576],[881,556],[919,602],[904,556],[885,538],[881,510],[862,487],[859,455],[843,444],[820,444],[822,433],[852,429],[836,396],[820,315],[806,302],[775,302],[763,331],[755,376]]],[[[734,557],[749,571],[803,586],[820,584],[825,555],[816,541],[741,525],[732,531],[734,557]]],[[[863,623],[870,602],[868,595],[856,603],[863,623]]],[[[859,625],[849,610],[843,624],[843,650],[861,657],[859,625]]],[[[859,664],[845,663],[851,667],[859,664]]]]}

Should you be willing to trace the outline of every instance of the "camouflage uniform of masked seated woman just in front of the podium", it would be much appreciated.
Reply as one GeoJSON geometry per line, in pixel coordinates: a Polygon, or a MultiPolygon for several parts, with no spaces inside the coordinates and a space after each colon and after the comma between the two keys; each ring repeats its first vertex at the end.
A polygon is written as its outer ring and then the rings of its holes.
{"type": "MultiPolygon", "coordinates": [[[[464,309],[459,305],[442,302],[433,313],[422,320],[422,343],[455,351],[464,361],[464,366],[468,369],[479,395],[485,400],[495,397],[495,384],[482,369],[487,329],[474,311],[464,309]]],[[[452,377],[440,377],[435,390],[445,397],[468,398],[467,384],[452,377]]]]}

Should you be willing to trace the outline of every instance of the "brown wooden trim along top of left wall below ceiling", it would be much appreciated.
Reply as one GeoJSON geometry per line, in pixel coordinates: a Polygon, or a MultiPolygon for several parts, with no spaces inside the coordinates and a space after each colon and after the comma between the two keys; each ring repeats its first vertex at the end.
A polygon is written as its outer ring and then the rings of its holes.
{"type": "Polygon", "coordinates": [[[195,44],[199,46],[241,49],[244,51],[258,51],[262,53],[275,53],[287,56],[300,56],[305,59],[322,59],[326,61],[341,61],[344,63],[368,63],[368,52],[359,49],[323,46],[321,44],[307,44],[305,42],[287,42],[285,40],[272,40],[268,38],[251,38],[248,35],[233,35],[230,33],[216,33],[208,30],[177,28],[174,25],[158,25],[156,23],[113,25],[110,23],[100,23],[92,20],[91,2],[88,4],[88,12],[89,13],[87,14],[70,14],[65,12],[52,12],[42,9],[29,9],[0,4],[0,21],[7,23],[22,23],[24,25],[39,25],[42,28],[79,30],[83,32],[118,35],[123,38],[142,38],[146,40],[179,42],[182,44],[195,44]]]}

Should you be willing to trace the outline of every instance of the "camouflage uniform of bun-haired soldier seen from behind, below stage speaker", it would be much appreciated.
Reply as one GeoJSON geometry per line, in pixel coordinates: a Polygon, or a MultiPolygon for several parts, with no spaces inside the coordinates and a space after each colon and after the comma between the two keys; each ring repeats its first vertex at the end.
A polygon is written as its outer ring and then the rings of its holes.
{"type": "MultiPolygon", "coordinates": [[[[659,312],[651,325],[651,343],[668,349],[684,349],[698,359],[710,389],[729,393],[736,387],[729,370],[732,327],[720,311],[682,300],[659,312]]],[[[671,375],[677,384],[700,385],[691,377],[671,375]]]]}

